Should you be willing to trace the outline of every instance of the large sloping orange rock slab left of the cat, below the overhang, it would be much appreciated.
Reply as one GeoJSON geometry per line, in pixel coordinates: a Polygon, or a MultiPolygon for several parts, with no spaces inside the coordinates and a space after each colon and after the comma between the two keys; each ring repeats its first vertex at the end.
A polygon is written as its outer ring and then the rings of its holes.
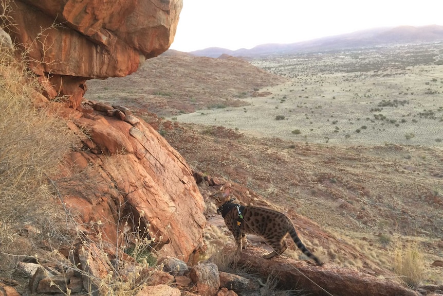
{"type": "Polygon", "coordinates": [[[120,245],[146,237],[157,257],[192,259],[206,219],[182,156],[141,119],[131,125],[104,112],[75,113],[61,112],[88,137],[68,155],[57,184],[84,231],[120,245]]]}

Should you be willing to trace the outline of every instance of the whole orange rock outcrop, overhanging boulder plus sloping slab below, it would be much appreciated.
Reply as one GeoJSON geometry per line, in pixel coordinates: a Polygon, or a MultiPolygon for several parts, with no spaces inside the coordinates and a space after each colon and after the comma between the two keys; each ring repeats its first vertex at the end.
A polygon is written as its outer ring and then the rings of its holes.
{"type": "Polygon", "coordinates": [[[146,238],[162,255],[191,260],[206,219],[189,166],[126,108],[83,98],[87,79],[126,76],[167,50],[182,0],[8,4],[0,12],[11,17],[5,31],[16,56],[25,54],[46,97],[65,101],[60,114],[81,137],[53,178],[77,231],[111,242],[110,252],[146,238]]]}

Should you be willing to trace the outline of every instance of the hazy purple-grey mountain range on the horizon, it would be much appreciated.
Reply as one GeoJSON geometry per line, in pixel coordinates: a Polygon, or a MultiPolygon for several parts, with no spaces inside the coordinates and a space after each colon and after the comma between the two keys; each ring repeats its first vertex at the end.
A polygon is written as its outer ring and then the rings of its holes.
{"type": "Polygon", "coordinates": [[[423,42],[443,42],[443,26],[376,28],[291,44],[261,44],[251,49],[230,50],[209,47],[191,51],[190,54],[211,58],[223,54],[234,57],[257,57],[423,42]]]}

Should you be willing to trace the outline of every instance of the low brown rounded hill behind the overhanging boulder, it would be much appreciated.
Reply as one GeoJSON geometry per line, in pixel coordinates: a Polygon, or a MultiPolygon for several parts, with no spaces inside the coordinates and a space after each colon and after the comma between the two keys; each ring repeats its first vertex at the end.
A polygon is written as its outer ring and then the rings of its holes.
{"type": "Polygon", "coordinates": [[[258,90],[286,81],[237,57],[213,59],[169,49],[126,77],[88,80],[87,97],[139,114],[171,116],[249,105],[241,99],[264,95],[258,90]]]}

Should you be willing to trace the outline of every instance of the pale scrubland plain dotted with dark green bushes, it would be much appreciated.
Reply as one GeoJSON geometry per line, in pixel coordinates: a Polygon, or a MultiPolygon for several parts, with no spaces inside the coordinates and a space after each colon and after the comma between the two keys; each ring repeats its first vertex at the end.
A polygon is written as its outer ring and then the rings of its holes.
{"type": "Polygon", "coordinates": [[[242,107],[170,118],[290,141],[443,147],[442,61],[441,44],[256,59],[288,81],[242,107]]]}

